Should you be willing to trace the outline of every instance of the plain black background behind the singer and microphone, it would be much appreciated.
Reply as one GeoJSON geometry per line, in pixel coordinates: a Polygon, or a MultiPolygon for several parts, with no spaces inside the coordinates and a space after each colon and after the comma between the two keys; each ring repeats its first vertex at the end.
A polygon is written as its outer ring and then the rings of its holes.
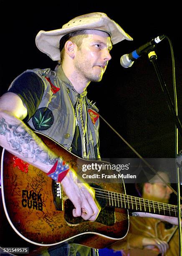
{"type": "MultiPolygon", "coordinates": [[[[167,35],[174,50],[179,118],[182,119],[181,13],[177,4],[130,1],[0,1],[0,94],[21,72],[31,68],[54,69],[56,63],[35,46],[40,30],[61,28],[68,20],[91,12],[104,12],[134,38],[114,45],[101,82],[91,83],[88,98],[99,113],[143,157],[175,157],[174,122],[148,57],[142,56],[129,69],[120,65],[123,54],[159,35],[167,35]]],[[[157,61],[172,100],[172,59],[167,39],[155,48],[157,61]]],[[[101,156],[134,158],[136,155],[101,120],[101,156]]],[[[181,136],[179,136],[179,149],[181,136]]],[[[173,172],[173,170],[171,170],[173,172]]],[[[174,174],[175,175],[175,174],[174,174]]],[[[126,189],[127,190],[127,189],[126,189]]],[[[130,194],[130,189],[127,191],[130,194]]]]}

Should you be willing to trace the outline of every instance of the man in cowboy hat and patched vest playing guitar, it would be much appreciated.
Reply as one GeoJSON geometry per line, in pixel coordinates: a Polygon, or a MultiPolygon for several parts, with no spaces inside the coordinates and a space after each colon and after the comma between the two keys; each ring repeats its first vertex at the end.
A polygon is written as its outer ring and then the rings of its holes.
{"type": "MultiPolygon", "coordinates": [[[[132,40],[104,13],[81,15],[61,29],[40,31],[35,39],[38,49],[60,65],[55,71],[25,71],[0,99],[0,146],[61,182],[75,207],[73,216],[84,220],[94,221],[99,214],[94,190],[78,183],[69,163],[32,130],[78,156],[100,158],[98,109],[86,98],[86,88],[91,81],[101,81],[112,44],[124,39],[132,40]]],[[[76,245],[64,246],[59,253],[91,255],[89,248],[76,245]]]]}

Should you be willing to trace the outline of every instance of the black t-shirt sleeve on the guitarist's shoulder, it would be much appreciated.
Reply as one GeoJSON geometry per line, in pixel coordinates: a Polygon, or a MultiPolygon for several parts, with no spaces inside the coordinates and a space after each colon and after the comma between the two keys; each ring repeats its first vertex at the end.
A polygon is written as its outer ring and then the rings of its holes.
{"type": "Polygon", "coordinates": [[[28,115],[24,121],[28,121],[37,110],[44,92],[44,84],[34,72],[26,72],[13,82],[8,92],[17,94],[25,104],[28,115]]]}

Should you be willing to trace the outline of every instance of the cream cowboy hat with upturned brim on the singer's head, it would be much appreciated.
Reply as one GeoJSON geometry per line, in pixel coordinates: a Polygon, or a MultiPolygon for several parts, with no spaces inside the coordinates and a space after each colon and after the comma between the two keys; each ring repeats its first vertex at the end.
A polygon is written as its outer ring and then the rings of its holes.
{"type": "Polygon", "coordinates": [[[114,20],[111,20],[105,13],[88,13],[73,18],[62,28],[51,31],[39,31],[35,44],[40,51],[47,54],[53,61],[60,60],[59,41],[68,33],[96,29],[109,33],[112,44],[126,39],[133,40],[114,20]]]}

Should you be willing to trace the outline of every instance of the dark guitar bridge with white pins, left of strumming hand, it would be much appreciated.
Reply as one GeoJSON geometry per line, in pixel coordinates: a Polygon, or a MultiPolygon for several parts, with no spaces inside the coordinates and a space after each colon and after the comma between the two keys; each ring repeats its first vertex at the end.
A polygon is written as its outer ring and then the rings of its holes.
{"type": "Polygon", "coordinates": [[[53,198],[56,210],[63,211],[63,189],[60,182],[52,181],[53,198]]]}

